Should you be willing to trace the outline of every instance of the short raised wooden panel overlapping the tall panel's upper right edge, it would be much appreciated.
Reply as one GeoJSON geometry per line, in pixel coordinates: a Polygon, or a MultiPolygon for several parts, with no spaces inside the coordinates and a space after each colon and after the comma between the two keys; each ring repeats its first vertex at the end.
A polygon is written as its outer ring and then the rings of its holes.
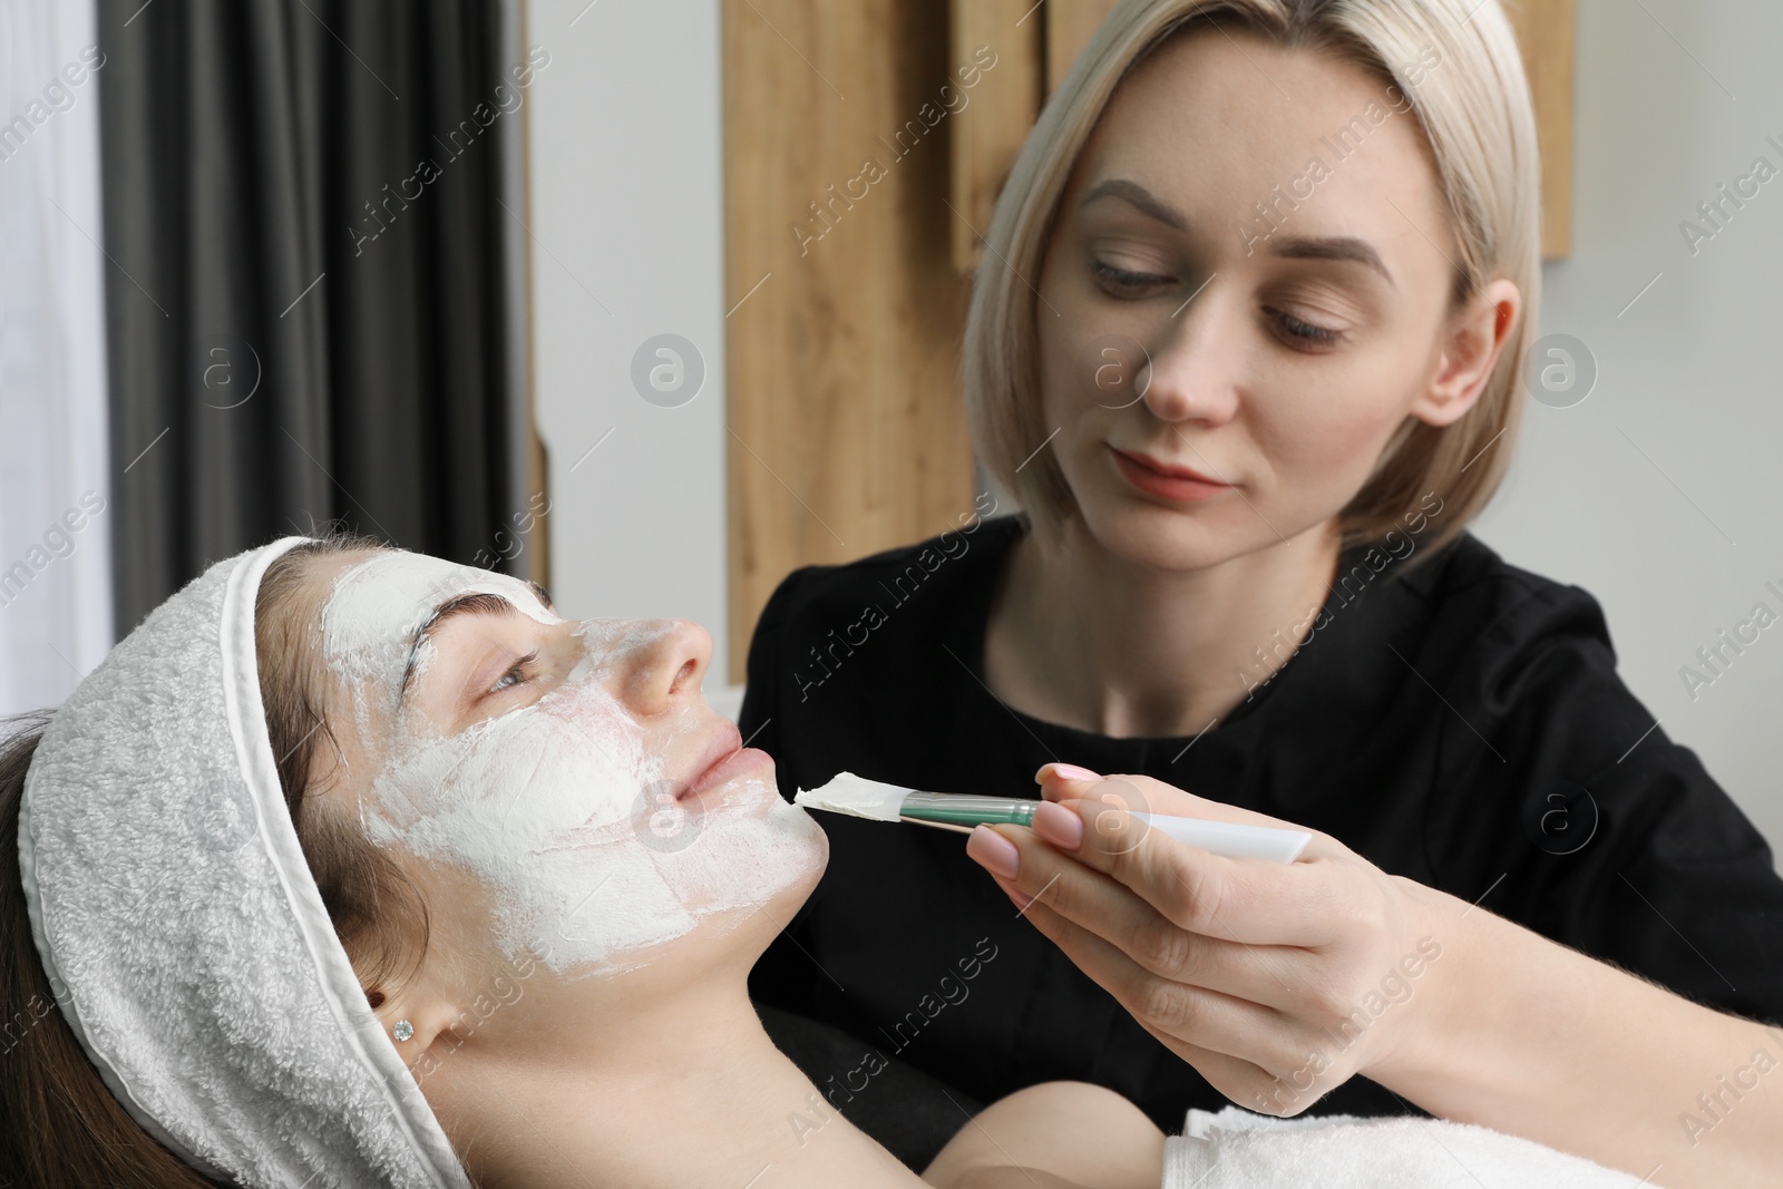
{"type": "Polygon", "coordinates": [[[970,273],[984,251],[991,207],[1027,139],[1043,96],[1041,29],[1032,0],[952,0],[954,62],[993,46],[997,66],[974,87],[972,102],[954,116],[952,203],[954,267],[970,273]]]}

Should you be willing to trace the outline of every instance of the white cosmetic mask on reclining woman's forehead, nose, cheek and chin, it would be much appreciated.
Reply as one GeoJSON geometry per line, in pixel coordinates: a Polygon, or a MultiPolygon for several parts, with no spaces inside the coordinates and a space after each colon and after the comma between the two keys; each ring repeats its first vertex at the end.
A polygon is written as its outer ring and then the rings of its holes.
{"type": "MultiPolygon", "coordinates": [[[[323,654],[362,724],[373,704],[392,720],[415,631],[439,603],[472,592],[563,622],[526,583],[437,558],[382,553],[341,572],[323,608],[323,654]]],[[[417,715],[392,731],[362,804],[366,836],[476,875],[512,961],[537,957],[558,973],[638,966],[638,950],[711,913],[761,904],[820,863],[820,829],[770,779],[672,802],[651,750],[669,738],[647,740],[604,681],[649,631],[583,620],[581,661],[533,706],[451,736],[417,715]],[[661,829],[678,816],[678,831],[661,829]]],[[[430,654],[428,644],[414,651],[414,679],[430,654]]],[[[697,722],[711,729],[713,718],[697,722]]],[[[676,727],[669,736],[686,738],[676,727]]]]}

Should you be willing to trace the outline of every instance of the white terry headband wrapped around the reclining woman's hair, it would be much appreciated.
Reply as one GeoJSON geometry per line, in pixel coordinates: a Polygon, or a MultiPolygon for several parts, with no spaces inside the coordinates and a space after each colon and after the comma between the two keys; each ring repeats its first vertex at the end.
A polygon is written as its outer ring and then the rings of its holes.
{"type": "Polygon", "coordinates": [[[20,870],[50,988],[112,1095],[251,1189],[469,1189],[298,845],[253,604],[303,537],[155,608],[45,731],[20,870]]]}

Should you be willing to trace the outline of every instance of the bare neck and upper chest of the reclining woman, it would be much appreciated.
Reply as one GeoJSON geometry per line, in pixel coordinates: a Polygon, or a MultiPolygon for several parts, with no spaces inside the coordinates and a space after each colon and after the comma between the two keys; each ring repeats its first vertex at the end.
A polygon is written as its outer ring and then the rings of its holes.
{"type": "Polygon", "coordinates": [[[474,1070],[455,1096],[480,1116],[483,1185],[740,1189],[772,1168],[763,1184],[920,1187],[774,1048],[729,975],[474,1070]]]}

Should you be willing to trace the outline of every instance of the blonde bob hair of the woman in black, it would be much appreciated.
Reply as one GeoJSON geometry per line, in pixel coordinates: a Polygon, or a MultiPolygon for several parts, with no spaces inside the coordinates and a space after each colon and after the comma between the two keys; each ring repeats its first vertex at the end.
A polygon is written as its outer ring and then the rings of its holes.
{"type": "Polygon", "coordinates": [[[1535,112],[1500,0],[1120,0],[1047,100],[997,198],[965,330],[974,449],[1043,538],[1077,512],[1054,456],[1034,455],[1047,428],[1036,294],[1023,278],[1039,275],[1072,166],[1114,87],[1166,39],[1211,25],[1325,52],[1398,87],[1428,139],[1458,251],[1450,312],[1500,276],[1523,294],[1475,406],[1446,428],[1407,417],[1337,517],[1344,547],[1375,542],[1434,492],[1442,519],[1432,549],[1419,551],[1428,556],[1498,490],[1523,417],[1521,360],[1541,305],[1535,112]],[[1417,70],[1432,50],[1439,64],[1417,70]]]}

